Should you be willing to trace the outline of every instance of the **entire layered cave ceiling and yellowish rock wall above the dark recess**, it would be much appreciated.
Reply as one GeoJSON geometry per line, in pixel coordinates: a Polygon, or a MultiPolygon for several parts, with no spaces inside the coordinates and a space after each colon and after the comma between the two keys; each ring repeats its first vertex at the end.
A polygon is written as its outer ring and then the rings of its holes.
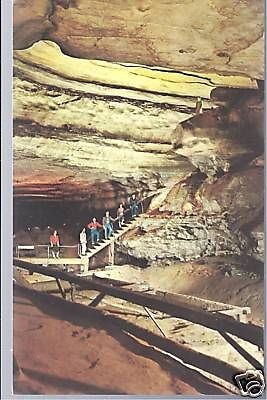
{"type": "Polygon", "coordinates": [[[218,89],[257,92],[263,12],[245,0],[16,0],[15,198],[109,208],[126,192],[171,187],[196,168],[212,178],[258,155],[214,126],[177,151],[174,142],[177,126],[195,126],[197,96],[217,121],[218,89]]]}

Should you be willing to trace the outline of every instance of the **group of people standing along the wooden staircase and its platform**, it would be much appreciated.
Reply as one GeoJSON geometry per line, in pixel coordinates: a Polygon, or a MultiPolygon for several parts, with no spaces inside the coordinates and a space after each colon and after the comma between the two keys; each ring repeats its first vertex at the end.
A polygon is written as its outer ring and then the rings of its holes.
{"type": "MultiPolygon", "coordinates": [[[[129,200],[129,210],[131,213],[131,217],[135,217],[139,212],[139,201],[135,194],[132,194],[129,200]]],[[[81,254],[85,255],[87,250],[87,230],[90,231],[91,236],[91,244],[94,245],[95,243],[99,242],[100,240],[100,231],[99,229],[104,230],[104,238],[107,240],[113,234],[113,226],[114,222],[118,222],[119,228],[125,222],[125,207],[123,204],[120,204],[117,209],[117,216],[116,218],[112,218],[109,211],[105,212],[104,217],[102,218],[102,224],[100,224],[96,217],[92,219],[91,222],[88,223],[87,227],[84,227],[79,235],[79,242],[81,246],[81,254]]],[[[59,249],[60,249],[60,239],[59,234],[56,230],[50,235],[49,237],[49,244],[52,256],[54,258],[59,258],[59,249]]]]}

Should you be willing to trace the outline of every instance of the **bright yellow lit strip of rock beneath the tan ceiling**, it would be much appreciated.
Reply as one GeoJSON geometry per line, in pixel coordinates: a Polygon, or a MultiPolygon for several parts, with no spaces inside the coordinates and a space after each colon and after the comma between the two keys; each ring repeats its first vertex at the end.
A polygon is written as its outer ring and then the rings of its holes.
{"type": "Polygon", "coordinates": [[[14,51],[15,59],[45,69],[68,80],[150,90],[180,96],[210,97],[215,87],[256,89],[255,80],[244,76],[175,72],[163,68],[79,59],[62,53],[51,41],[39,41],[26,50],[14,51]]]}

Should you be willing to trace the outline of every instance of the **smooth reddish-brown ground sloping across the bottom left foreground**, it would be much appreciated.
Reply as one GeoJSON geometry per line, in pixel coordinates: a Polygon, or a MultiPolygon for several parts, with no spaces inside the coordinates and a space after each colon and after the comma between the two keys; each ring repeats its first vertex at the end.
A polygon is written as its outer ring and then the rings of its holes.
{"type": "Polygon", "coordinates": [[[14,297],[19,394],[225,394],[198,372],[115,325],[72,318],[19,290],[14,297]]]}

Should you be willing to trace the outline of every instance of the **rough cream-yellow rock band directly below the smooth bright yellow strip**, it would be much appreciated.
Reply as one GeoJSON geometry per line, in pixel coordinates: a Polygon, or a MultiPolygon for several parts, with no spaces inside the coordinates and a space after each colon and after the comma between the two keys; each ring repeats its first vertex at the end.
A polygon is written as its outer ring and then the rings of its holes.
{"type": "MultiPolygon", "coordinates": [[[[171,143],[172,130],[186,115],[172,104],[63,91],[19,78],[14,84],[15,118],[61,128],[69,135],[79,131],[88,136],[166,144],[171,143]]],[[[186,108],[190,115],[193,107],[186,108]]]]}

